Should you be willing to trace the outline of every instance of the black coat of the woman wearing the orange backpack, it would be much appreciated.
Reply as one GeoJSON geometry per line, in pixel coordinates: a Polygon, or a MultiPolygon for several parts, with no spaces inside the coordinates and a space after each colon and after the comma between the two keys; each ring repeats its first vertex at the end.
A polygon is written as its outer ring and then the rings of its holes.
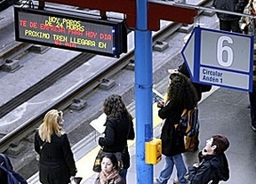
{"type": "Polygon", "coordinates": [[[185,152],[184,135],[175,130],[174,124],[178,124],[184,107],[172,101],[164,108],[159,109],[158,116],[165,119],[161,132],[162,153],[164,156],[175,156],[185,152]]]}

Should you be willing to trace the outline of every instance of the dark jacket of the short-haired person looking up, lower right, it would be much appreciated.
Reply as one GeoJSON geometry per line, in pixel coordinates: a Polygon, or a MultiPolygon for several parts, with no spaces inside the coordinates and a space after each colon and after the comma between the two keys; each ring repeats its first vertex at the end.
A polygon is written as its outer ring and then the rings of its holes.
{"type": "Polygon", "coordinates": [[[210,180],[212,184],[217,184],[220,180],[229,179],[228,159],[224,153],[202,156],[200,152],[200,160],[202,161],[198,167],[188,167],[188,180],[191,184],[207,184],[210,180]]]}

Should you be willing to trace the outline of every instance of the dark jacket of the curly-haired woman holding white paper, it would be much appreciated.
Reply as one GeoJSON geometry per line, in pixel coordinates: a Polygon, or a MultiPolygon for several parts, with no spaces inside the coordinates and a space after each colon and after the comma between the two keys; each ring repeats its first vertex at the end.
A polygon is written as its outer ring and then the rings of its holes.
{"type": "Polygon", "coordinates": [[[133,140],[135,132],[132,120],[123,116],[120,120],[107,118],[105,123],[105,137],[99,139],[99,145],[104,152],[116,153],[124,151],[124,169],[130,167],[130,155],[127,148],[127,140],[133,140]]]}

